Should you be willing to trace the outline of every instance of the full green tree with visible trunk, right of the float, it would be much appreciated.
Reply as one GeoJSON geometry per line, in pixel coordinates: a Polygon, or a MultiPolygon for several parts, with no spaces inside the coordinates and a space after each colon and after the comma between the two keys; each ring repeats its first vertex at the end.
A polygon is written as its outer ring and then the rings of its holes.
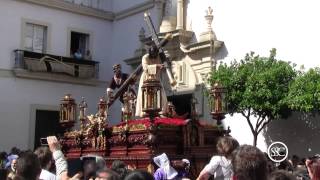
{"type": "Polygon", "coordinates": [[[284,99],[289,83],[296,77],[294,65],[275,59],[276,49],[269,57],[260,57],[253,52],[244,59],[220,64],[213,70],[209,82],[220,82],[228,90],[228,111],[241,113],[253,134],[253,145],[259,133],[272,120],[288,115],[284,99]]]}

